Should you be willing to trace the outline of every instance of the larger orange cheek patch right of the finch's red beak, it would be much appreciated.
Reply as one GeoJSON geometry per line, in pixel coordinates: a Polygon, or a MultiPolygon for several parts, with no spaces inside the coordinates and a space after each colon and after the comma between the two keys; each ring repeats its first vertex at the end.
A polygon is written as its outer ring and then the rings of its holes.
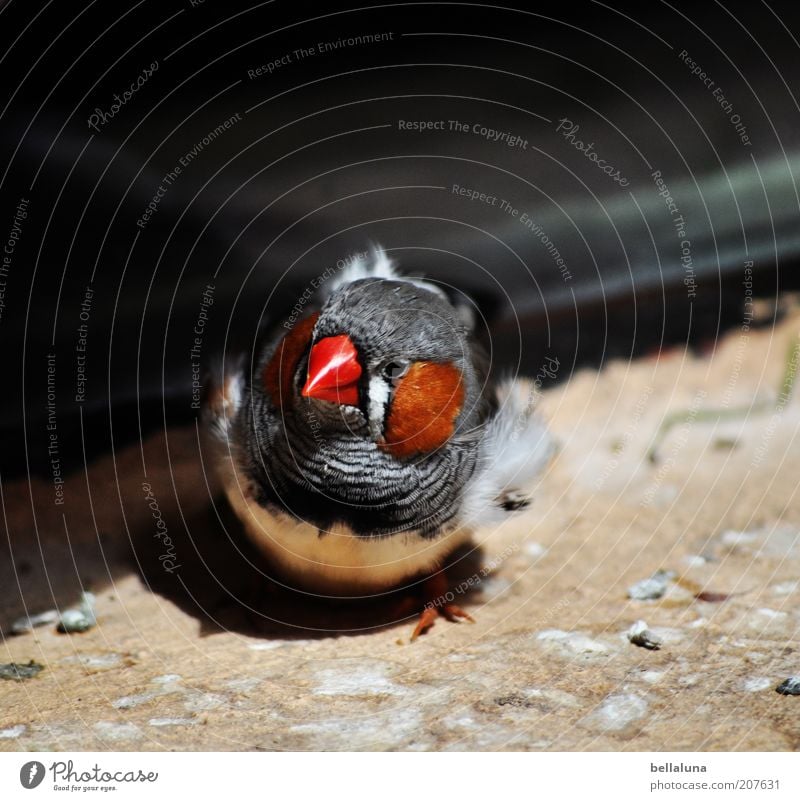
{"type": "Polygon", "coordinates": [[[463,403],[452,364],[414,362],[395,389],[382,447],[399,459],[436,450],[453,436],[463,403]]]}

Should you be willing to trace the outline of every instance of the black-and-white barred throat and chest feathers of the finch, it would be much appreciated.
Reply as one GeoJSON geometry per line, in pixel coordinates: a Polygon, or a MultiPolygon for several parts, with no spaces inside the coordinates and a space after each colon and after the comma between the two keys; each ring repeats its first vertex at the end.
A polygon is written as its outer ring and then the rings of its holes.
{"type": "Polygon", "coordinates": [[[305,409],[279,415],[263,399],[251,397],[239,420],[266,419],[247,442],[247,472],[258,487],[257,500],[318,527],[321,535],[337,523],[359,537],[386,537],[416,531],[424,538],[452,528],[464,487],[478,460],[471,439],[431,454],[398,460],[369,438],[363,416],[305,409]]]}

